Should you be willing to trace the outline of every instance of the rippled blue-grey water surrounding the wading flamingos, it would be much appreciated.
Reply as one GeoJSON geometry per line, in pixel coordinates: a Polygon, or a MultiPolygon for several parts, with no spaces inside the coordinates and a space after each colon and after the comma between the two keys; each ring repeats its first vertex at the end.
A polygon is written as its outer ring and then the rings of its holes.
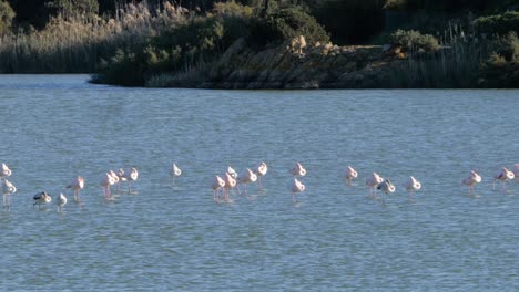
{"type": "MultiPolygon", "coordinates": [[[[518,291],[519,91],[122,88],[85,75],[0,76],[1,290],[518,291]],[[211,184],[266,161],[265,191],[211,184]],[[289,169],[306,190],[292,202],[289,169]],[[169,175],[176,163],[183,175],[169,175]],[[359,173],[344,184],[352,165],[359,173]],[[136,167],[139,194],[102,197],[136,167]],[[461,180],[482,176],[477,197],[461,180]],[[397,186],[367,197],[377,171],[397,186]],[[403,184],[423,182],[414,202],[403,184]],[[82,205],[64,186],[83,176],[82,205]],[[39,210],[40,190],[67,194],[39,210]]],[[[125,187],[125,186],[124,186],[125,187]]]]}

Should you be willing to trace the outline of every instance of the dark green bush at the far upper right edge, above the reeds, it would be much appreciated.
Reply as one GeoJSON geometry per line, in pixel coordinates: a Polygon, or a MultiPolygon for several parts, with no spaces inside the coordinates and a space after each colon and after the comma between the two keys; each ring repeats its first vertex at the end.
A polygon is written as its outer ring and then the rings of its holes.
{"type": "Polygon", "coordinates": [[[476,31],[487,34],[505,35],[509,31],[519,33],[519,11],[509,11],[498,15],[481,17],[474,21],[476,31]]]}

